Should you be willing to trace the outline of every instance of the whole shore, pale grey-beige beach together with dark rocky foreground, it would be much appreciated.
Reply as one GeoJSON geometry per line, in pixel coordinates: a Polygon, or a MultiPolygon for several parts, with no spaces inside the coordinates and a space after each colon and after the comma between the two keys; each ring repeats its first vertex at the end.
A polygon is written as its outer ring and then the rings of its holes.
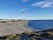
{"type": "Polygon", "coordinates": [[[53,28],[33,31],[27,20],[0,20],[0,40],[53,40],[53,28]]]}

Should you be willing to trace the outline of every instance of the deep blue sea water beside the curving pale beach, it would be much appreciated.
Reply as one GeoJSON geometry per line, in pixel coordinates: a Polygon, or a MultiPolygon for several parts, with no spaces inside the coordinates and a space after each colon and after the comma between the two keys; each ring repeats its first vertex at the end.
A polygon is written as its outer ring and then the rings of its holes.
{"type": "Polygon", "coordinates": [[[29,20],[28,27],[34,30],[47,30],[53,28],[53,20],[29,20]]]}

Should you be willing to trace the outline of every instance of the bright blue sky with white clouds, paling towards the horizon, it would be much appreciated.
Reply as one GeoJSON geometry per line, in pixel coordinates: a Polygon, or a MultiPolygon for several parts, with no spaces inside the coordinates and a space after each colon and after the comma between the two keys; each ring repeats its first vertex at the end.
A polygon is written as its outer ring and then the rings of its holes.
{"type": "Polygon", "coordinates": [[[0,19],[53,19],[53,0],[0,0],[0,19]]]}

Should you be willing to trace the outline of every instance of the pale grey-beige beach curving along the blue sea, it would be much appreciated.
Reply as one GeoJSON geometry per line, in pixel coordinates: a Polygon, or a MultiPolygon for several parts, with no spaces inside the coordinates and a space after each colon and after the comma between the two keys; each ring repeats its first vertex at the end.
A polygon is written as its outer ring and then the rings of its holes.
{"type": "Polygon", "coordinates": [[[27,28],[27,20],[17,20],[11,22],[0,22],[0,36],[15,34],[15,33],[22,33],[25,31],[31,31],[30,28],[27,28]]]}

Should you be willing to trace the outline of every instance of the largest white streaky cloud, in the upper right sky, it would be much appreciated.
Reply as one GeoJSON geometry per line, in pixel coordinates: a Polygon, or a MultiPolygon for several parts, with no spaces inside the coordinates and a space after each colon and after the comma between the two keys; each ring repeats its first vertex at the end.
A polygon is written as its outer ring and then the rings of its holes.
{"type": "Polygon", "coordinates": [[[43,0],[40,2],[33,3],[31,6],[37,6],[41,8],[48,8],[53,6],[53,1],[52,0],[43,0]]]}

